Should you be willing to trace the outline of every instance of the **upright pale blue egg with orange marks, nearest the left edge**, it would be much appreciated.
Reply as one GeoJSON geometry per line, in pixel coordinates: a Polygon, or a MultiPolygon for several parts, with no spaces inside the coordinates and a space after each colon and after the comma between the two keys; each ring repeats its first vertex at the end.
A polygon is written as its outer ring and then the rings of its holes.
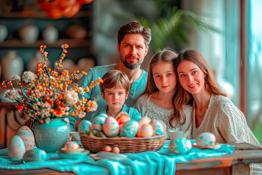
{"type": "Polygon", "coordinates": [[[11,159],[20,160],[23,158],[25,145],[22,138],[18,135],[13,135],[7,145],[7,154],[11,159]]]}

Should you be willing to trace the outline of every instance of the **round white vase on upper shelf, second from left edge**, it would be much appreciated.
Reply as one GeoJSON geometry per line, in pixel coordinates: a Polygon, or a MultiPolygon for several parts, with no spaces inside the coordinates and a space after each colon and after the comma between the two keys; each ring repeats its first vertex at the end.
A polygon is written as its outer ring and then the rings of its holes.
{"type": "Polygon", "coordinates": [[[25,43],[34,43],[38,38],[39,30],[35,25],[25,25],[19,29],[19,36],[25,43]]]}

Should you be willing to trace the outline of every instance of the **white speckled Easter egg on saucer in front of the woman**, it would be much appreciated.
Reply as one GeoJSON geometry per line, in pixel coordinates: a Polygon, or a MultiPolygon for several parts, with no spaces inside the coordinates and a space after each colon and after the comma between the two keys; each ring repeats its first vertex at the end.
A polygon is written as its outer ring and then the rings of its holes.
{"type": "Polygon", "coordinates": [[[216,136],[211,132],[202,132],[196,137],[198,146],[215,145],[216,136]]]}

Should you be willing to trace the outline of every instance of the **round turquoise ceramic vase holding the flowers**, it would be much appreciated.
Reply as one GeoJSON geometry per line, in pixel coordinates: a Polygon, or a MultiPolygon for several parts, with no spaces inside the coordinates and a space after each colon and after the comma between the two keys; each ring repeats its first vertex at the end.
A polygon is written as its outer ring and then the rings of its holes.
{"type": "Polygon", "coordinates": [[[70,132],[68,123],[63,118],[51,119],[49,123],[35,123],[32,131],[36,147],[42,148],[46,152],[60,150],[68,140],[70,132]]]}

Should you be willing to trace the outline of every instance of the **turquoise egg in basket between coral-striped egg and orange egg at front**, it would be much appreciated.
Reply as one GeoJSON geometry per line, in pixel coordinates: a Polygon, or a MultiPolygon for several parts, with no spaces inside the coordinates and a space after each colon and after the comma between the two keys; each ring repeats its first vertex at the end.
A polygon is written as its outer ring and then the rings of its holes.
{"type": "Polygon", "coordinates": [[[138,121],[131,119],[125,122],[122,127],[120,128],[120,135],[122,136],[135,136],[138,130],[138,121]]]}

